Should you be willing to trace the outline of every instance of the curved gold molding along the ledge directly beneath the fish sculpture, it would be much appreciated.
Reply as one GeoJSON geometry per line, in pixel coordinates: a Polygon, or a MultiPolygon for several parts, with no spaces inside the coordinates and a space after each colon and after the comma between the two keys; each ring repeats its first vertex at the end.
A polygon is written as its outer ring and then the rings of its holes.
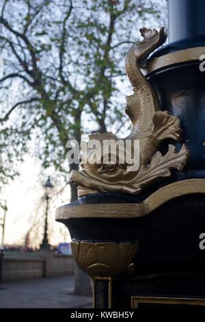
{"type": "Polygon", "coordinates": [[[141,203],[99,203],[61,206],[56,220],[70,218],[136,218],[146,216],[169,200],[183,195],[205,194],[205,179],[185,179],[163,186],[141,203]]]}

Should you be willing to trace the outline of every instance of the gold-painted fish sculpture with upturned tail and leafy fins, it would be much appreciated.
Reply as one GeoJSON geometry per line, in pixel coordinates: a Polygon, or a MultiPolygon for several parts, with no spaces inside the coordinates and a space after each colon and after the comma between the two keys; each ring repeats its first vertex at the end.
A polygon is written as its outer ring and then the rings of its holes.
{"type": "MultiPolygon", "coordinates": [[[[143,40],[133,45],[126,54],[126,73],[133,86],[133,95],[126,97],[126,114],[132,123],[131,134],[122,141],[139,140],[139,167],[129,171],[132,164],[120,163],[120,156],[127,156],[130,147],[118,147],[114,164],[111,163],[111,140],[118,138],[112,133],[92,134],[90,140],[99,140],[100,147],[86,151],[87,163],[81,164],[81,171],[72,171],[70,180],[77,185],[79,197],[98,192],[119,192],[137,195],[141,190],[161,177],[169,177],[171,169],[181,171],[189,158],[185,145],[176,153],[174,145],[169,145],[165,156],[158,151],[160,143],[172,138],[180,140],[180,121],[176,116],[161,111],[159,98],[150,83],[141,73],[141,67],[146,64],[148,55],[165,42],[167,34],[164,28],[140,29],[143,40]],[[107,140],[107,156],[105,158],[105,140],[107,140]],[[103,150],[102,150],[103,143],[103,150]],[[93,163],[93,159],[98,162],[93,163]],[[108,164],[105,162],[108,160],[108,164]]],[[[83,157],[83,151],[81,152],[83,157]]],[[[126,160],[124,158],[123,160],[126,160]]]]}

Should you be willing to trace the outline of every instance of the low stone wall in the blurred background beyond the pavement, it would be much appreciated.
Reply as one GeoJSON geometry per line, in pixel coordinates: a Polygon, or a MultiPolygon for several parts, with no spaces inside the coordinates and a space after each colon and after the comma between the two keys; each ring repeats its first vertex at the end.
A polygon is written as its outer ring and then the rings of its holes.
{"type": "Polygon", "coordinates": [[[52,251],[40,251],[33,258],[4,257],[2,280],[26,280],[74,274],[72,256],[55,254],[52,251]]]}

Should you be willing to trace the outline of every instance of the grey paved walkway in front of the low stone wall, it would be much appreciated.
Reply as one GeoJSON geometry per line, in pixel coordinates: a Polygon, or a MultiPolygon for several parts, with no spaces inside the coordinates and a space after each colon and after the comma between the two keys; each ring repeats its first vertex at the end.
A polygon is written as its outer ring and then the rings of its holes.
{"type": "Polygon", "coordinates": [[[0,308],[92,308],[92,298],[73,295],[74,278],[44,278],[0,284],[0,308]]]}

